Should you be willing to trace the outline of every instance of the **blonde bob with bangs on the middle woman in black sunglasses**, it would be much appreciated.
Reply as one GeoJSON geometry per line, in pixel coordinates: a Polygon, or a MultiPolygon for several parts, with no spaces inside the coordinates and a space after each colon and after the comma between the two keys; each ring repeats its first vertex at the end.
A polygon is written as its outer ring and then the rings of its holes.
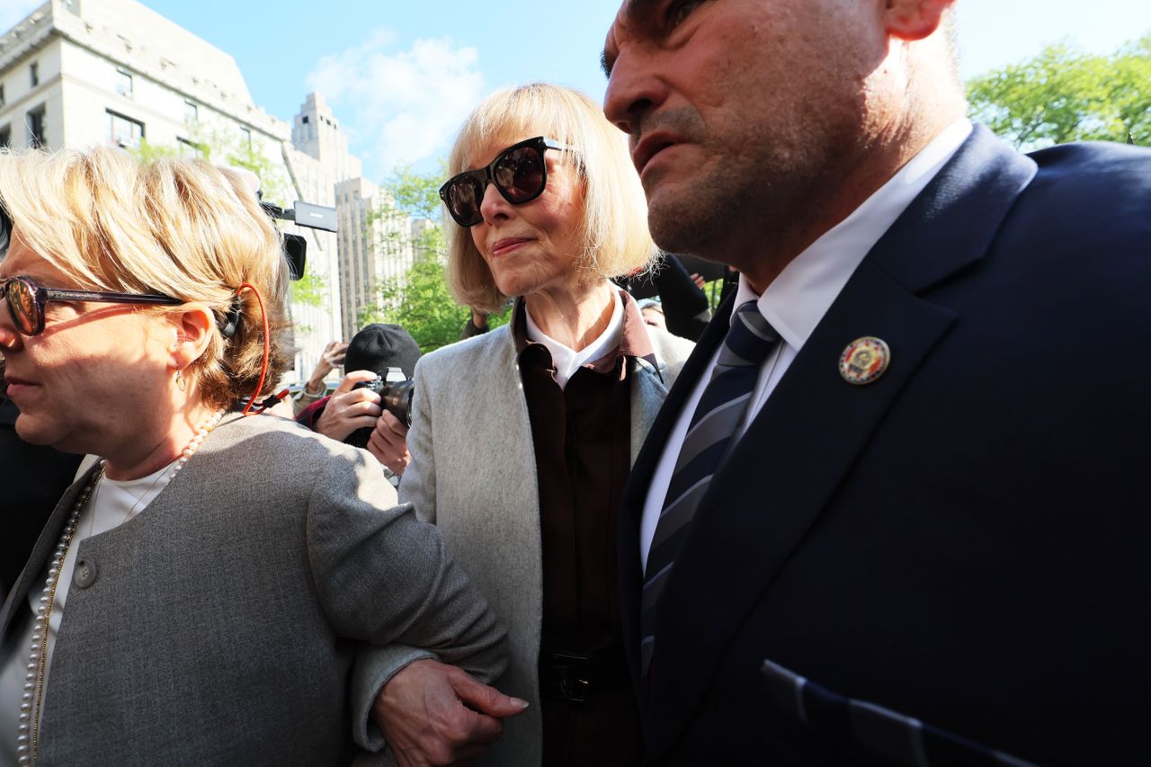
{"type": "MultiPolygon", "coordinates": [[[[584,93],[547,83],[496,91],[464,121],[448,159],[448,173],[467,170],[495,141],[533,136],[554,138],[574,152],[584,179],[584,252],[589,275],[611,279],[648,268],[657,251],[647,227],[647,199],[632,167],[623,134],[584,93]]],[[[456,299],[486,312],[498,311],[510,296],[496,287],[471,229],[444,212],[448,234],[448,284],[456,299]]]]}

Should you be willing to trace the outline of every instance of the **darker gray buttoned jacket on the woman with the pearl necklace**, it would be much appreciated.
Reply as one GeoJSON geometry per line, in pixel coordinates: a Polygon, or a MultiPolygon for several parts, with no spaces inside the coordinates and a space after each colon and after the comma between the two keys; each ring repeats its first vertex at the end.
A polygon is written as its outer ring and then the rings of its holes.
{"type": "MultiPolygon", "coordinates": [[[[0,636],[30,620],[26,594],[90,476],[56,507],[0,636]]],[[[96,578],[69,588],[44,765],[348,764],[359,643],[502,668],[483,598],[375,460],[276,417],[226,418],[143,514],[78,556],[96,578]]]]}

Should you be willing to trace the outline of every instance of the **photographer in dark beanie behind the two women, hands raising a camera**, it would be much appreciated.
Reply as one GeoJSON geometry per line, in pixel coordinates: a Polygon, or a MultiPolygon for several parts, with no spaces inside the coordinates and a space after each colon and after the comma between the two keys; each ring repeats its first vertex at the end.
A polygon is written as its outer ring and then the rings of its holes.
{"type": "Polygon", "coordinates": [[[375,460],[396,477],[404,473],[410,456],[404,441],[406,426],[380,404],[380,395],[371,388],[357,387],[380,377],[388,379],[389,369],[398,369],[411,378],[420,348],[398,325],[368,325],[361,328],[344,356],[348,373],[335,393],[305,408],[297,422],[325,436],[346,442],[360,428],[374,428],[365,446],[375,460]],[[387,439],[384,436],[387,435],[387,439]]]}

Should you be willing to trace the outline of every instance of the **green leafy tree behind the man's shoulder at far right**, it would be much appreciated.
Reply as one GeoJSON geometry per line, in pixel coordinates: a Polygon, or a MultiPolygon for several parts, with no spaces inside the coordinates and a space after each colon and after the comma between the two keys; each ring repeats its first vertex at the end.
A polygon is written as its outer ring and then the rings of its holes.
{"type": "Polygon", "coordinates": [[[971,79],[971,117],[1021,149],[1072,141],[1151,145],[1151,33],[1110,55],[1067,43],[971,79]]]}

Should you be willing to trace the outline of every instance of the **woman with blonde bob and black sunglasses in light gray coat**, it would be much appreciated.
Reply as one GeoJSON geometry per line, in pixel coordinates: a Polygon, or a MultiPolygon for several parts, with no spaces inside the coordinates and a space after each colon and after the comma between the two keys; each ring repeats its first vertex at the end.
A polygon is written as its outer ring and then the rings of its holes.
{"type": "MultiPolygon", "coordinates": [[[[611,282],[656,253],[643,190],[600,107],[547,84],[480,104],[449,168],[440,193],[451,289],[481,311],[509,297],[514,309],[506,326],[417,365],[399,495],[439,525],[509,625],[511,666],[497,686],[531,705],[505,723],[488,764],[634,765],[617,509],[691,351],[646,326],[611,282]]],[[[384,736],[401,729],[398,708],[384,690],[384,736]]]]}

